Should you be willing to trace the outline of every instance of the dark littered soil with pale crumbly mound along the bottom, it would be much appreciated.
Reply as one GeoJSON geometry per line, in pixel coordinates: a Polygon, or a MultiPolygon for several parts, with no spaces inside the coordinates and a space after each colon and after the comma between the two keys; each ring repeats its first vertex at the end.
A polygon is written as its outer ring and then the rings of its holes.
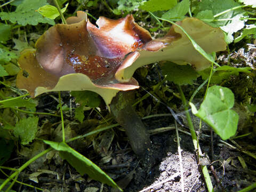
{"type": "MultiPolygon", "coordinates": [[[[171,124],[172,117],[157,117],[143,121],[149,129],[159,128],[159,122],[164,122],[163,126],[173,126],[171,124]]],[[[123,187],[125,192],[181,191],[180,163],[176,137],[174,130],[151,135],[150,139],[153,146],[151,148],[151,155],[144,161],[137,158],[133,151],[131,151],[127,141],[120,138],[119,140],[114,139],[111,143],[111,154],[107,155],[111,161],[108,163],[102,163],[102,159],[107,156],[102,158],[98,155],[95,158],[95,153],[90,151],[90,148],[79,152],[89,158],[93,156],[91,160],[110,175],[119,186],[123,187]],[[90,153],[88,153],[89,151],[90,153]]],[[[181,132],[179,137],[185,191],[207,191],[199,169],[200,166],[197,163],[191,137],[181,132]]],[[[208,151],[210,153],[210,143],[209,138],[200,142],[204,152],[208,151]]],[[[220,145],[218,139],[214,142],[214,159],[222,162],[212,164],[215,175],[220,180],[219,183],[215,180],[209,165],[209,172],[215,191],[238,191],[256,181],[255,171],[244,169],[238,157],[248,158],[237,150],[220,145]],[[224,167],[225,173],[223,175],[224,167]]],[[[55,175],[46,172],[42,173],[37,177],[38,183],[35,183],[28,179],[29,177],[31,179],[31,173],[36,172],[30,167],[30,169],[20,174],[19,180],[47,189],[46,191],[118,191],[107,185],[101,185],[98,181],[91,180],[87,175],[81,177],[67,162],[61,161],[58,154],[55,154],[55,157],[48,163],[47,165],[43,163],[42,165],[44,166],[41,169],[50,170],[56,173],[55,175]]],[[[18,184],[15,184],[14,187],[16,189],[20,188],[20,191],[35,191],[18,184]]]]}

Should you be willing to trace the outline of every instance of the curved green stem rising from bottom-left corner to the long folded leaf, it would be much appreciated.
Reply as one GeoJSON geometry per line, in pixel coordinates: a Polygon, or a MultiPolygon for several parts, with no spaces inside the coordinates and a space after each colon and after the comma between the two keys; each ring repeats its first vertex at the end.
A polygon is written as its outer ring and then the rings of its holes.
{"type": "Polygon", "coordinates": [[[25,164],[23,164],[17,171],[15,171],[14,173],[12,173],[12,175],[7,178],[2,185],[0,186],[0,191],[4,188],[4,186],[14,177],[16,177],[16,175],[18,175],[21,171],[23,171],[24,169],[26,169],[27,166],[29,166],[31,163],[33,163],[34,161],[36,161],[36,159],[38,159],[39,157],[42,157],[43,155],[49,153],[49,151],[51,151],[52,148],[46,149],[44,151],[42,151],[41,153],[37,154],[35,157],[29,159],[25,164]]]}

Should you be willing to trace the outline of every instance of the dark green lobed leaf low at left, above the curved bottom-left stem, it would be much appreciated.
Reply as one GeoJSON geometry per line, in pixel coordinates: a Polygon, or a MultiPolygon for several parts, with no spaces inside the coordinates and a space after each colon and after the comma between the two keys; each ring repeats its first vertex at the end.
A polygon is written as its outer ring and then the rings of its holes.
{"type": "Polygon", "coordinates": [[[15,137],[20,138],[22,145],[27,145],[36,137],[38,117],[22,118],[14,127],[15,137]]]}

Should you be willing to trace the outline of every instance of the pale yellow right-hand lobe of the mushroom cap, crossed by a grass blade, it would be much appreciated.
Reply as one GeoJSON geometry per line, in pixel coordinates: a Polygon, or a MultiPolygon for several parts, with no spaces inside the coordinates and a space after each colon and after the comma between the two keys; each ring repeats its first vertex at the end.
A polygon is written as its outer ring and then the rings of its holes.
{"type": "MultiPolygon", "coordinates": [[[[187,31],[206,53],[226,50],[224,34],[220,28],[211,27],[196,18],[186,18],[177,24],[187,31]]],[[[115,75],[118,81],[129,81],[137,68],[157,61],[172,61],[179,65],[190,63],[196,70],[210,66],[210,62],[195,50],[186,34],[176,25],[173,25],[164,37],[146,43],[141,50],[134,63],[123,63],[118,68],[115,75]]]]}

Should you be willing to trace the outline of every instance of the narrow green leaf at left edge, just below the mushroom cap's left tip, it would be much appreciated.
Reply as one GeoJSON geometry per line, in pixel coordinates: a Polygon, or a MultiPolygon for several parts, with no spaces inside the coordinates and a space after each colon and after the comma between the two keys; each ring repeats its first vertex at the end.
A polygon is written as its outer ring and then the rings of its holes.
{"type": "Polygon", "coordinates": [[[0,101],[3,107],[36,107],[37,103],[33,99],[23,99],[23,98],[11,98],[0,101]]]}

